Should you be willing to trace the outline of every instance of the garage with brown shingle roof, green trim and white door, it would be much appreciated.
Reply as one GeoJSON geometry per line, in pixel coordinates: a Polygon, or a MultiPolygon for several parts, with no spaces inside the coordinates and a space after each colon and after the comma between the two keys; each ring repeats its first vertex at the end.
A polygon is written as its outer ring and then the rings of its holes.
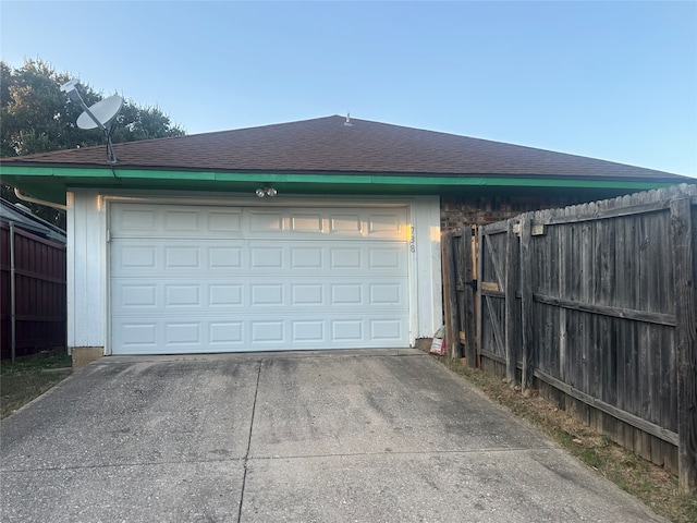
{"type": "Polygon", "coordinates": [[[415,346],[443,324],[441,230],[685,181],[340,115],[113,148],[1,166],[65,204],[76,361],[415,346]]]}

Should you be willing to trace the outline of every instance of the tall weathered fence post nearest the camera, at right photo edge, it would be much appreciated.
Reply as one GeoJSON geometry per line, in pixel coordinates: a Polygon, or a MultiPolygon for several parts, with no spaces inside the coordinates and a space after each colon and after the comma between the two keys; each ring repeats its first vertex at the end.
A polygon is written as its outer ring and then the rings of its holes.
{"type": "Polygon", "coordinates": [[[690,198],[671,200],[675,345],[677,363],[677,467],[683,491],[697,494],[697,320],[690,198]]]}

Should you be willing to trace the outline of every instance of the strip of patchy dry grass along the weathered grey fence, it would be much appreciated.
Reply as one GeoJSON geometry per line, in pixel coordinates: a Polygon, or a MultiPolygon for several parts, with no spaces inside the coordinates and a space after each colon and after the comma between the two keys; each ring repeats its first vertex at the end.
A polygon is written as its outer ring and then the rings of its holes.
{"type": "Polygon", "coordinates": [[[445,357],[438,360],[598,474],[640,499],[657,514],[675,523],[697,523],[697,496],[681,494],[677,478],[662,467],[621,448],[608,436],[573,419],[557,405],[536,394],[526,398],[499,377],[465,367],[460,361],[445,357]]]}

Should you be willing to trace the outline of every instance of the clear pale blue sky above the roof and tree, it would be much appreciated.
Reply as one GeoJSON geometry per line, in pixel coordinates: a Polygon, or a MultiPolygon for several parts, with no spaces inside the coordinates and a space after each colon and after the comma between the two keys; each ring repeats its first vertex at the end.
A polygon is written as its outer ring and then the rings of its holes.
{"type": "Polygon", "coordinates": [[[344,114],[697,177],[697,2],[0,3],[40,58],[188,134],[344,114]]]}

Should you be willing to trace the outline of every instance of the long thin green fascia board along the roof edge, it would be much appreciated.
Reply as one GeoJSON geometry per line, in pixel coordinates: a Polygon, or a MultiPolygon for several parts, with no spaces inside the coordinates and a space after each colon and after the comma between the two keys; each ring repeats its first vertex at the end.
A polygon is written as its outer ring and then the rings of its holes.
{"type": "MultiPolygon", "coordinates": [[[[114,168],[56,168],[0,166],[0,175],[17,178],[49,177],[54,179],[81,178],[121,180],[180,180],[218,182],[259,183],[313,183],[313,184],[366,184],[366,185],[420,185],[420,186],[518,186],[518,187],[565,187],[565,188],[636,188],[649,190],[677,182],[636,180],[592,180],[559,178],[499,178],[499,177],[438,177],[438,175],[387,175],[387,174],[310,174],[310,173],[257,173],[257,172],[213,172],[213,171],[160,171],[145,169],[114,168]]],[[[28,181],[28,180],[27,180],[28,181]]],[[[58,181],[58,180],[57,180],[58,181]]]]}

